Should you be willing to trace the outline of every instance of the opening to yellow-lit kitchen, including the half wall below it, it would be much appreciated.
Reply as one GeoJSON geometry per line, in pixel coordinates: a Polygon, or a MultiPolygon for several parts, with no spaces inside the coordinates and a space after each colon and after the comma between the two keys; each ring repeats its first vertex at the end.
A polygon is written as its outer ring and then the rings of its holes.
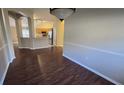
{"type": "MultiPolygon", "coordinates": [[[[39,41],[38,47],[50,47],[55,45],[56,36],[55,29],[53,28],[53,22],[51,21],[42,21],[40,19],[34,20],[35,28],[35,41],[39,41]]],[[[35,43],[35,42],[34,42],[35,43]]],[[[36,46],[35,45],[35,46],[36,46]]]]}

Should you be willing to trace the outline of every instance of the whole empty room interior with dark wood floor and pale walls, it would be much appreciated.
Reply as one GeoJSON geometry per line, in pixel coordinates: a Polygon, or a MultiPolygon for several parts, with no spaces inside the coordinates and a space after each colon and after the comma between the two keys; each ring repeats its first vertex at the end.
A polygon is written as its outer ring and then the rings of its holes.
{"type": "Polygon", "coordinates": [[[123,8],[0,8],[0,84],[123,85],[123,39],[123,8]]]}

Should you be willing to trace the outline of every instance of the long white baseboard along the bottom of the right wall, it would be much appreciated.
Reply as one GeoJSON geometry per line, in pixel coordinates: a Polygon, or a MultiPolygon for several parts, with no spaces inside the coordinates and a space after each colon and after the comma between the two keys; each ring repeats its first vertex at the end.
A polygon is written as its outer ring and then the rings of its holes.
{"type": "Polygon", "coordinates": [[[73,62],[75,62],[75,63],[77,63],[77,64],[83,66],[84,68],[90,70],[91,72],[93,72],[93,73],[95,73],[95,74],[97,74],[97,75],[103,77],[104,79],[106,79],[106,80],[108,80],[108,81],[110,81],[110,82],[116,84],[116,85],[122,85],[121,83],[119,83],[119,82],[117,82],[117,81],[115,81],[115,80],[113,80],[113,79],[111,79],[111,78],[109,78],[109,77],[103,75],[102,73],[100,73],[100,72],[98,72],[98,71],[96,71],[96,70],[94,70],[94,69],[92,69],[92,68],[90,68],[90,67],[88,67],[88,66],[86,66],[86,65],[81,64],[80,62],[74,60],[73,58],[68,57],[68,56],[65,55],[65,54],[63,54],[63,56],[66,57],[66,58],[68,58],[69,60],[72,60],[73,62]]]}

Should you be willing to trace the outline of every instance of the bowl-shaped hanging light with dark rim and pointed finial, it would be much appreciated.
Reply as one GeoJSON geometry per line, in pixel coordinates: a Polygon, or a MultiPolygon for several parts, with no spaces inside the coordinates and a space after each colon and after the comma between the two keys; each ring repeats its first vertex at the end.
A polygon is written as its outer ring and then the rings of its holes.
{"type": "Polygon", "coordinates": [[[50,13],[61,21],[75,12],[76,8],[50,8],[50,13]]]}

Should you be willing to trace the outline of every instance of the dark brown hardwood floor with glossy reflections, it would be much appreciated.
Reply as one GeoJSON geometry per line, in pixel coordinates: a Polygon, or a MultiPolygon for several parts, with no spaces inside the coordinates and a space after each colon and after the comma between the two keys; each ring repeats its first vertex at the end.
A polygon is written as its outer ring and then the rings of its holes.
{"type": "Polygon", "coordinates": [[[62,48],[15,48],[5,85],[113,85],[113,83],[62,56],[62,48]]]}

